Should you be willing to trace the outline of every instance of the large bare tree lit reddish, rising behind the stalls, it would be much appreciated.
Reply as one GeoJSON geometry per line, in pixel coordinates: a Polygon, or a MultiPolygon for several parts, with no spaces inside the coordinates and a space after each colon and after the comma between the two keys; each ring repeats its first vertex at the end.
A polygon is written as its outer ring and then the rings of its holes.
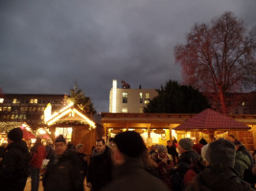
{"type": "Polygon", "coordinates": [[[211,24],[195,24],[186,44],[175,46],[184,83],[219,100],[227,113],[225,94],[255,89],[256,28],[247,32],[244,22],[224,12],[211,24]]]}

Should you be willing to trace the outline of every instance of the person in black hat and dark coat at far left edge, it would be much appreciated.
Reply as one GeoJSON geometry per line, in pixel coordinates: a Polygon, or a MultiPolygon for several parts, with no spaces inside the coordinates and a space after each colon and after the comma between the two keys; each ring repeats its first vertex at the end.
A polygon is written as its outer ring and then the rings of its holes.
{"type": "Polygon", "coordinates": [[[23,191],[29,176],[29,149],[22,129],[14,128],[8,134],[8,146],[0,164],[0,189],[23,191]]]}

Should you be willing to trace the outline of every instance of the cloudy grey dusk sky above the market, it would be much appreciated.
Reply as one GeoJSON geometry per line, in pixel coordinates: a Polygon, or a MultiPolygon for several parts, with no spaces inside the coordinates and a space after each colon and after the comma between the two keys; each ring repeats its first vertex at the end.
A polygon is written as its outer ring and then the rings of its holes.
{"type": "Polygon", "coordinates": [[[195,23],[233,11],[249,29],[255,9],[256,0],[0,0],[0,88],[68,94],[77,81],[108,112],[112,79],[181,81],[174,47],[195,23]]]}

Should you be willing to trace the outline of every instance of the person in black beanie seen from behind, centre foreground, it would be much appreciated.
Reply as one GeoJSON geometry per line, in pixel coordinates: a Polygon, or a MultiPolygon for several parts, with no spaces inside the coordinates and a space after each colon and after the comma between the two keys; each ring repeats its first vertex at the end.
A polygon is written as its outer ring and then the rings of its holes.
{"type": "Polygon", "coordinates": [[[145,153],[146,145],[138,133],[127,131],[116,135],[112,148],[113,180],[103,191],[170,190],[167,184],[146,170],[142,159],[145,153]]]}

